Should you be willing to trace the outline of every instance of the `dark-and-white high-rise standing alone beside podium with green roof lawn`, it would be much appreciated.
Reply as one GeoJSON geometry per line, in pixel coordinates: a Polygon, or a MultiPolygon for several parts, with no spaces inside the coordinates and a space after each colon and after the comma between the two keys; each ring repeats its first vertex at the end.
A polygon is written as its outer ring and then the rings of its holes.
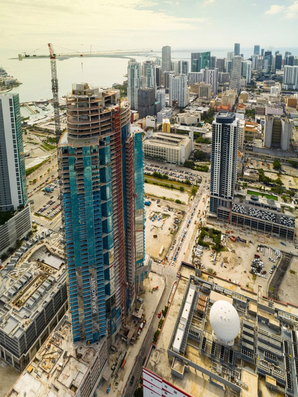
{"type": "Polygon", "coordinates": [[[230,208],[237,177],[238,119],[220,112],[212,123],[210,212],[230,208]]]}

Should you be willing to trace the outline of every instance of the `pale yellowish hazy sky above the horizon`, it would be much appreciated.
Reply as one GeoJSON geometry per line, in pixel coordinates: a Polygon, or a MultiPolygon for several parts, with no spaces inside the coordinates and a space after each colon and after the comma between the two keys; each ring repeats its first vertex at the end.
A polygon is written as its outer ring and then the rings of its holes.
{"type": "Polygon", "coordinates": [[[2,59],[47,54],[48,42],[56,52],[233,50],[298,47],[297,37],[298,0],[0,0],[2,59]]]}

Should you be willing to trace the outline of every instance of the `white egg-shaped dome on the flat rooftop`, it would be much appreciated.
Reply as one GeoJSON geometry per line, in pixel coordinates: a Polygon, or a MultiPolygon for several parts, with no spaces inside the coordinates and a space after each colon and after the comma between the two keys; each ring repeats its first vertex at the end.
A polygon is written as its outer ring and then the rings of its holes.
{"type": "Polygon", "coordinates": [[[224,342],[236,338],[240,330],[240,319],[235,307],[226,300],[218,300],[210,310],[210,324],[215,335],[224,342]]]}

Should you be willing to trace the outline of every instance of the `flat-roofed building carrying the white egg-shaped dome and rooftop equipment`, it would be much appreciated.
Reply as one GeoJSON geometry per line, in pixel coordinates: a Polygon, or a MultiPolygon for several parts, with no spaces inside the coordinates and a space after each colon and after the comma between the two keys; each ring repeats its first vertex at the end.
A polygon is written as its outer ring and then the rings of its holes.
{"type": "Polygon", "coordinates": [[[182,263],[144,397],[297,393],[298,310],[182,263]]]}

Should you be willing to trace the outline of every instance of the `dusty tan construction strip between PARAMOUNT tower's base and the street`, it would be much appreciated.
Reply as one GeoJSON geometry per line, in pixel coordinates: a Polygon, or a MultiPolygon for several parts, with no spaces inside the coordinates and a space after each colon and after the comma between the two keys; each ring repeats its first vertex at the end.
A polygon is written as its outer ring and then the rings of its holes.
{"type": "MultiPolygon", "coordinates": [[[[155,315],[155,310],[159,304],[159,301],[160,301],[160,298],[161,298],[164,288],[165,288],[165,280],[163,279],[163,277],[156,273],[150,272],[149,278],[144,281],[145,292],[143,294],[138,294],[138,296],[140,296],[144,299],[144,302],[142,303],[141,308],[144,310],[145,319],[147,322],[141,332],[141,335],[139,336],[139,338],[135,341],[135,343],[133,345],[127,345],[122,340],[118,340],[117,343],[114,344],[114,346],[117,347],[117,351],[112,353],[110,350],[110,352],[109,352],[110,353],[109,367],[111,368],[113,366],[113,364],[116,363],[116,368],[115,368],[110,380],[108,382],[104,382],[101,385],[101,387],[99,389],[97,389],[97,396],[106,395],[107,389],[110,384],[111,384],[111,391],[109,393],[109,396],[111,396],[111,397],[121,397],[122,396],[122,394],[125,390],[125,386],[126,386],[127,382],[129,382],[129,378],[131,376],[133,367],[138,359],[138,355],[139,355],[139,352],[143,345],[143,342],[147,336],[149,324],[151,322],[151,319],[155,315]],[[158,285],[158,289],[150,292],[152,290],[152,288],[156,287],[157,285],[158,285]],[[126,354],[125,366],[124,366],[124,368],[119,368],[125,354],[126,354]],[[117,360],[117,357],[118,357],[118,360],[117,360]],[[117,373],[118,368],[119,368],[119,370],[117,373]],[[117,373],[117,377],[115,377],[116,373],[117,373]]],[[[135,325],[134,319],[131,318],[131,320],[129,321],[129,325],[134,326],[137,331],[140,323],[135,325]]]]}

